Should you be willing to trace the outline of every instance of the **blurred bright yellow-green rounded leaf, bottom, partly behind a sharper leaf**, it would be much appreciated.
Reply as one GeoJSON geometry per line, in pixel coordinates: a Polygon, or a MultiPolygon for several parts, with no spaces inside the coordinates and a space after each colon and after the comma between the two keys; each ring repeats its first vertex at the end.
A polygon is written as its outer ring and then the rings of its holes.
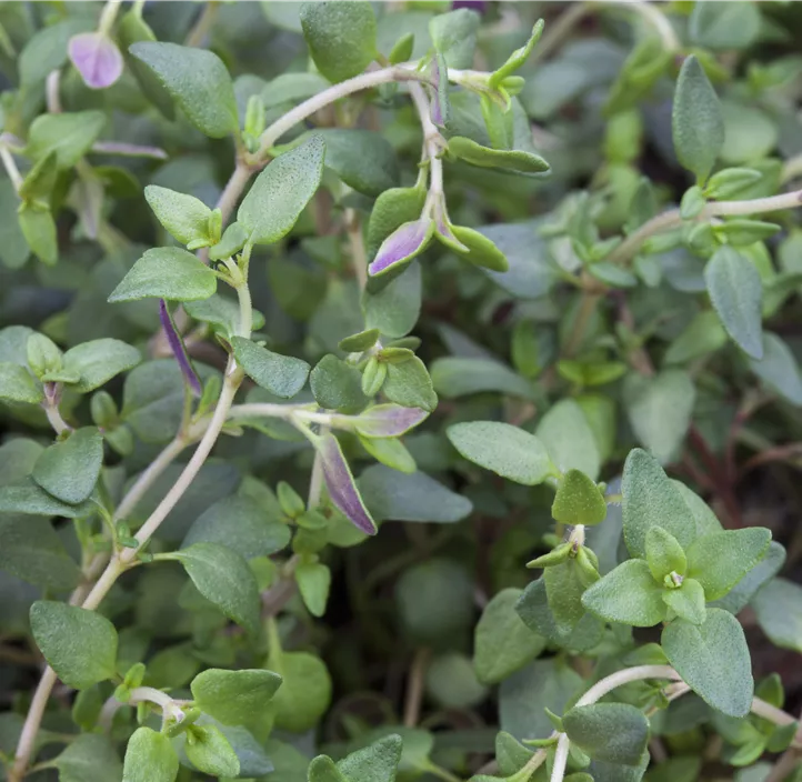
{"type": "Polygon", "coordinates": [[[331,704],[325,663],[308,652],[281,652],[271,653],[267,664],[282,679],[273,698],[275,726],[292,733],[314,728],[331,704]]]}

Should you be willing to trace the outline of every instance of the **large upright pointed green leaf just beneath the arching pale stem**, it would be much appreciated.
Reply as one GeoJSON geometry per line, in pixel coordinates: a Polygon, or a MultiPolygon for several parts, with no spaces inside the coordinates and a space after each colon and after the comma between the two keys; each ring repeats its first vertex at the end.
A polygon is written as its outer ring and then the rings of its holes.
{"type": "Polygon", "coordinates": [[[325,146],[320,134],[284,152],[262,171],[237,212],[253,244],[272,244],[287,235],[318,190],[325,146]]]}

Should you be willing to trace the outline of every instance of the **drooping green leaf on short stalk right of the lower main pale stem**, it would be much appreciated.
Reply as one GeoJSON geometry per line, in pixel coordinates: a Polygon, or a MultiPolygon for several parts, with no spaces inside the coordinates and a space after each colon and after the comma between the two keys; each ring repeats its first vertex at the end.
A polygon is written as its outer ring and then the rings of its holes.
{"type": "Polygon", "coordinates": [[[229,619],[259,631],[259,588],[240,554],[219,543],[196,543],[168,557],[181,562],[198,591],[229,619]]]}

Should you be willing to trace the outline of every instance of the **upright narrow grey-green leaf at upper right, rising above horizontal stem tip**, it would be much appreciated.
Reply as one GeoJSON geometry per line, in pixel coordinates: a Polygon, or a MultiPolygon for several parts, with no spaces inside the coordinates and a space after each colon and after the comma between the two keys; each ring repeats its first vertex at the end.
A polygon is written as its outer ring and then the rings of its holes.
{"type": "Polygon", "coordinates": [[[715,90],[693,54],[676,80],[671,130],[680,163],[703,183],[724,146],[724,120],[715,90]]]}

